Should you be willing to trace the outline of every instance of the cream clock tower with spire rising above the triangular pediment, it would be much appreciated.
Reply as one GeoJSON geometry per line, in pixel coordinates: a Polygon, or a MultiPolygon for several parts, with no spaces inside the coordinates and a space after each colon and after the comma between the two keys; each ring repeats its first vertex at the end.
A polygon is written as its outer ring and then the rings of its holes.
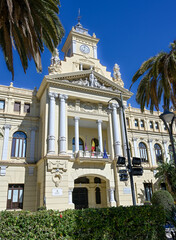
{"type": "Polygon", "coordinates": [[[64,60],[59,59],[58,50],[52,57],[51,65],[49,66],[49,74],[64,74],[84,70],[94,70],[104,77],[112,80],[111,73],[106,70],[106,66],[100,63],[97,57],[97,43],[95,33],[91,36],[88,30],[80,23],[72,27],[62,51],[64,52],[64,60]]]}

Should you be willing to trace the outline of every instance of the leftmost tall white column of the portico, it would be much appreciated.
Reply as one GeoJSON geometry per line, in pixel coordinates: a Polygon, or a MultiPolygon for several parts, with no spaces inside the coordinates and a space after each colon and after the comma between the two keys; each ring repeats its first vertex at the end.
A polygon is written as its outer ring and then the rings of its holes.
{"type": "Polygon", "coordinates": [[[50,109],[49,109],[49,131],[48,131],[48,153],[55,154],[55,98],[57,93],[49,93],[50,109]]]}

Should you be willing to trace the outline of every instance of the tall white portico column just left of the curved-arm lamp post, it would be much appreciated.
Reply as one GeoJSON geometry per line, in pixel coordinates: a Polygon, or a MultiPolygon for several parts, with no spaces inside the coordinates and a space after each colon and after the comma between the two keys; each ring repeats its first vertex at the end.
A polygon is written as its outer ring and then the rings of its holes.
{"type": "Polygon", "coordinates": [[[115,157],[121,155],[121,146],[120,146],[120,133],[119,125],[117,121],[117,104],[112,104],[112,119],[113,119],[113,133],[114,133],[114,152],[115,157]]]}

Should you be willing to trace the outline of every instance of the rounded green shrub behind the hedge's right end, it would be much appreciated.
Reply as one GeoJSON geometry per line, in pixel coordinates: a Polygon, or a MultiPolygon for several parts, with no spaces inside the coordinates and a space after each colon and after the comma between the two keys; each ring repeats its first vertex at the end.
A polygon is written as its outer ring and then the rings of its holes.
{"type": "Polygon", "coordinates": [[[172,195],[166,190],[159,190],[153,193],[151,203],[154,206],[162,206],[168,213],[174,207],[174,199],[172,195]]]}

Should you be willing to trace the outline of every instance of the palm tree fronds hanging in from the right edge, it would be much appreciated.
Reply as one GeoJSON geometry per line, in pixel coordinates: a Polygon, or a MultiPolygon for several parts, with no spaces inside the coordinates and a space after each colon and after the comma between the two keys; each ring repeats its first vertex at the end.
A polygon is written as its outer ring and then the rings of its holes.
{"type": "Polygon", "coordinates": [[[153,112],[163,100],[169,108],[176,108],[176,41],[171,43],[170,52],[161,52],[145,61],[132,78],[132,85],[140,79],[136,101],[144,111],[145,105],[153,112]]]}

